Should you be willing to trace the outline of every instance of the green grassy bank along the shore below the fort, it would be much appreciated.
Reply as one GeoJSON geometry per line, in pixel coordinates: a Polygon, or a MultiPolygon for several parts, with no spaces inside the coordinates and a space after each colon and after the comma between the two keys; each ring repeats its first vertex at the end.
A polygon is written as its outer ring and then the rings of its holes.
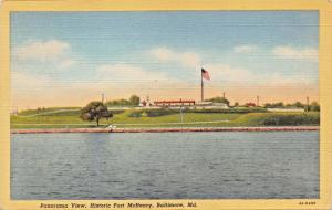
{"type": "MultiPolygon", "coordinates": [[[[59,108],[58,108],[59,109],[59,108]]],[[[73,108],[68,108],[73,109],[73,108]]],[[[48,109],[50,112],[50,109],[48,109]]],[[[110,120],[102,119],[101,125],[114,124],[117,127],[236,127],[236,126],[288,126],[319,125],[320,113],[185,113],[184,124],[179,113],[163,116],[133,117],[136,111],[114,114],[110,120]],[[209,122],[209,123],[207,123],[209,122]],[[195,123],[195,124],[193,124],[195,123]],[[138,125],[139,124],[139,125],[138,125]]],[[[74,128],[95,127],[95,123],[84,122],[77,111],[34,116],[33,112],[11,116],[11,128],[74,128]],[[29,113],[29,114],[27,114],[29,113]],[[32,115],[32,116],[31,116],[32,115]]]]}

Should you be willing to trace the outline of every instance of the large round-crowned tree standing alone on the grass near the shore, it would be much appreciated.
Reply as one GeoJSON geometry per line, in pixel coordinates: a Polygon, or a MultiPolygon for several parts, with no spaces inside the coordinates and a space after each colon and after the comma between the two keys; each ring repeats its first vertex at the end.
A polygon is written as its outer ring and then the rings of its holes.
{"type": "Polygon", "coordinates": [[[85,107],[81,109],[80,117],[83,120],[95,120],[97,126],[100,126],[101,118],[108,119],[110,117],[113,117],[113,115],[102,102],[90,102],[85,107]]]}

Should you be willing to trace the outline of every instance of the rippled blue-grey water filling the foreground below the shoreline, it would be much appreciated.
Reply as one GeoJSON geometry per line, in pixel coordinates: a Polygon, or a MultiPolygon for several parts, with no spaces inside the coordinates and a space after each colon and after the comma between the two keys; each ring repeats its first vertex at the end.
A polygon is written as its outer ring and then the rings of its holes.
{"type": "Polygon", "coordinates": [[[319,198],[319,133],[17,134],[11,198],[319,198]]]}

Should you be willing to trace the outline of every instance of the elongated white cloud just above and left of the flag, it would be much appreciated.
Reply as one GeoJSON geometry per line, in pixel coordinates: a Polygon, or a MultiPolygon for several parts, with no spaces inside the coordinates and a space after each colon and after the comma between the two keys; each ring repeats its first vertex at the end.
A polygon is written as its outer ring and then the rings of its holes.
{"type": "Polygon", "coordinates": [[[199,67],[200,56],[195,52],[176,52],[168,48],[155,48],[149,50],[149,54],[160,62],[177,62],[186,67],[199,67]]]}

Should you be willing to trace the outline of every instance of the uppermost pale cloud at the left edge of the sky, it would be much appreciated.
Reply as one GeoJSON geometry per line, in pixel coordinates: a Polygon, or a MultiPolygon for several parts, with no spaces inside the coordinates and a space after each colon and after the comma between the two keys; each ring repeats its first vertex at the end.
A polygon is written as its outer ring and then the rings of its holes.
{"type": "Polygon", "coordinates": [[[70,44],[59,40],[30,41],[13,50],[20,60],[48,61],[56,59],[70,49],[70,44]]]}

